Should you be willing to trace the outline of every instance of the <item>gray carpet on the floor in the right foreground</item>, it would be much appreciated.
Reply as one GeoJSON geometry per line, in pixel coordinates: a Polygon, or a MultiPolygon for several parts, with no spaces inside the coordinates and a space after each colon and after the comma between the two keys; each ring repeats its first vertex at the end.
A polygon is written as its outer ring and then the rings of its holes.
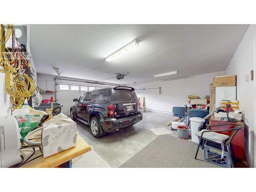
{"type": "Polygon", "coordinates": [[[160,135],[120,167],[219,167],[204,161],[200,148],[199,160],[194,159],[197,144],[170,135],[160,135]]]}

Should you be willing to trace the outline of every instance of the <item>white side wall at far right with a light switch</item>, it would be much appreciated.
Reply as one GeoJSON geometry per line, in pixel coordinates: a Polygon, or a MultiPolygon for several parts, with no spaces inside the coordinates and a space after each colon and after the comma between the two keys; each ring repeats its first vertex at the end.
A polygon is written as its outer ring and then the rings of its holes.
{"type": "Polygon", "coordinates": [[[256,82],[255,80],[246,81],[245,77],[250,74],[251,70],[253,70],[253,65],[255,63],[255,60],[253,60],[253,58],[255,59],[256,54],[255,40],[256,25],[250,25],[226,69],[226,74],[237,74],[237,97],[240,100],[240,110],[248,120],[245,129],[246,157],[252,167],[256,165],[254,158],[256,129],[253,128],[255,116],[255,107],[253,107],[255,103],[253,84],[255,86],[256,82]]]}

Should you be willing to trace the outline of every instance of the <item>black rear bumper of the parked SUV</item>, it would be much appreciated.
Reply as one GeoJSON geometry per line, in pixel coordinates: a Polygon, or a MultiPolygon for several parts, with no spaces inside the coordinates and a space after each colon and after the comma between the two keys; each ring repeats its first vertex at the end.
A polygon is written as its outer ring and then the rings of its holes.
{"type": "Polygon", "coordinates": [[[138,113],[136,115],[130,116],[130,117],[125,117],[125,118],[108,118],[108,119],[103,119],[103,122],[101,122],[102,129],[104,132],[113,132],[117,129],[124,128],[126,126],[131,126],[139,121],[141,121],[143,118],[142,113],[138,113]]]}

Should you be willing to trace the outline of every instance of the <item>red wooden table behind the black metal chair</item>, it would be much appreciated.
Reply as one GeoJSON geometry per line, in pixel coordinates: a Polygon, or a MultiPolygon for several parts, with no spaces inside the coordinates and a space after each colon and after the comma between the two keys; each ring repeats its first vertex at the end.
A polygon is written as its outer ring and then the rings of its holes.
{"type": "MultiPolygon", "coordinates": [[[[210,124],[220,124],[220,123],[233,123],[229,121],[221,121],[220,117],[215,117],[214,115],[210,116],[210,124]]],[[[244,139],[244,123],[242,121],[238,121],[239,124],[243,125],[243,128],[237,132],[231,141],[231,145],[234,151],[234,155],[237,159],[242,161],[246,161],[245,158],[245,139],[244,139]]],[[[222,126],[212,126],[211,130],[224,130],[224,129],[232,129],[234,125],[222,125],[222,126]]],[[[232,132],[220,132],[221,134],[225,134],[230,136],[232,132]]]]}

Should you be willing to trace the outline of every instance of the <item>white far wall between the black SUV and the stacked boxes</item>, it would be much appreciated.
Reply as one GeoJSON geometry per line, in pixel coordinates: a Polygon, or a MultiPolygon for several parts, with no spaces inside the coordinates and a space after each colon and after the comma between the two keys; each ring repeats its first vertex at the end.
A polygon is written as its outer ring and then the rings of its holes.
{"type": "Polygon", "coordinates": [[[138,96],[145,97],[146,109],[172,112],[173,106],[188,104],[188,95],[209,95],[209,83],[213,82],[215,76],[223,75],[224,73],[208,73],[183,79],[152,81],[131,86],[135,89],[161,87],[161,95],[159,95],[159,89],[137,90],[136,93],[138,96]]]}

